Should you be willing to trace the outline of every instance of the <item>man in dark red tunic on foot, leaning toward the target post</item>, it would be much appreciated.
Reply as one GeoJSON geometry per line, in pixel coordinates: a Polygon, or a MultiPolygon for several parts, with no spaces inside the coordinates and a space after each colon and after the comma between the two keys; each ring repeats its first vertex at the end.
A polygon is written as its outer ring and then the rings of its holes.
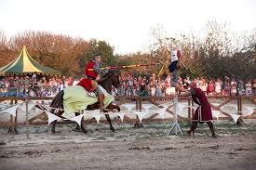
{"type": "Polygon", "coordinates": [[[215,130],[213,127],[213,124],[211,123],[212,120],[212,114],[211,109],[209,105],[208,98],[206,97],[205,93],[200,89],[196,88],[196,83],[193,81],[190,84],[190,94],[192,95],[192,98],[196,104],[198,104],[198,108],[195,111],[193,122],[191,125],[190,130],[188,131],[188,134],[190,136],[194,136],[195,128],[197,124],[204,124],[207,123],[209,125],[209,129],[211,132],[212,137],[216,137],[215,130]]]}

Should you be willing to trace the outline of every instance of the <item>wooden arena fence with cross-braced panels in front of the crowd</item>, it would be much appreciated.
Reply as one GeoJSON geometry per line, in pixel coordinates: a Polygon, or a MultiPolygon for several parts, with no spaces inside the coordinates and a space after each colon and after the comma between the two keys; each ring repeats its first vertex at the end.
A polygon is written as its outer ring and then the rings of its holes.
{"type": "MultiPolygon", "coordinates": [[[[178,114],[178,118],[179,121],[187,121],[188,123],[191,122],[191,119],[193,117],[194,111],[195,111],[195,107],[196,104],[194,103],[193,99],[191,97],[185,97],[185,96],[179,96],[179,102],[183,102],[183,103],[187,103],[188,106],[192,106],[192,107],[188,107],[186,114],[187,116],[181,116],[180,114],[178,114]]],[[[37,97],[27,97],[27,98],[21,98],[21,97],[2,97],[0,98],[0,102],[10,102],[10,103],[17,103],[19,101],[24,101],[26,103],[26,111],[28,111],[28,106],[27,103],[29,101],[48,101],[50,102],[52,98],[50,97],[46,97],[46,98],[37,98],[37,97]]],[[[143,105],[144,103],[151,103],[155,106],[157,106],[159,109],[163,108],[163,106],[161,106],[161,104],[159,103],[165,103],[165,102],[169,102],[170,105],[168,107],[168,109],[166,110],[166,112],[168,112],[168,114],[173,115],[173,111],[170,111],[169,108],[172,107],[171,101],[173,100],[173,97],[160,97],[160,98],[156,98],[156,97],[116,97],[115,98],[117,101],[119,101],[120,104],[122,103],[135,103],[136,106],[136,110],[141,111],[143,109],[143,105]]],[[[219,120],[232,120],[234,119],[234,117],[231,116],[230,113],[222,110],[222,107],[228,103],[236,103],[236,113],[237,115],[240,115],[240,119],[256,119],[256,105],[255,105],[255,101],[256,101],[256,96],[236,96],[236,97],[209,97],[209,103],[211,105],[212,110],[214,111],[219,111],[222,113],[221,117],[214,117],[214,119],[219,119],[219,120]],[[219,99],[219,103],[218,105],[211,103],[211,99],[219,99]],[[243,114],[243,106],[244,103],[249,102],[253,105],[253,109],[252,112],[250,114],[243,114]]],[[[18,111],[18,110],[17,110],[18,111]]],[[[19,113],[17,113],[16,111],[16,116],[10,115],[9,117],[9,121],[7,122],[0,122],[0,127],[9,127],[9,132],[10,133],[16,133],[17,132],[17,128],[19,125],[46,125],[47,124],[47,114],[46,112],[42,112],[40,114],[35,115],[34,117],[28,119],[28,117],[26,117],[26,121],[24,122],[19,122],[19,113]],[[37,120],[35,122],[35,120],[37,120]],[[39,122],[38,122],[39,121],[39,122]]],[[[111,114],[111,112],[110,112],[111,114]]],[[[143,122],[171,122],[173,121],[173,117],[172,118],[165,118],[165,119],[159,119],[156,118],[158,115],[157,112],[155,112],[154,114],[150,115],[149,117],[143,119],[143,122]]],[[[114,119],[112,120],[113,122],[117,122],[120,123],[121,121],[119,119],[114,119]]],[[[59,122],[58,124],[73,124],[74,122],[72,121],[65,121],[65,122],[59,122]]],[[[94,119],[90,119],[85,121],[85,123],[87,124],[91,124],[91,123],[96,123],[96,120],[94,119]]],[[[106,120],[101,119],[101,123],[107,123],[106,120]]],[[[133,123],[135,124],[135,126],[140,126],[141,122],[139,121],[138,116],[135,118],[131,118],[127,115],[124,116],[124,120],[123,123],[133,123]]]]}

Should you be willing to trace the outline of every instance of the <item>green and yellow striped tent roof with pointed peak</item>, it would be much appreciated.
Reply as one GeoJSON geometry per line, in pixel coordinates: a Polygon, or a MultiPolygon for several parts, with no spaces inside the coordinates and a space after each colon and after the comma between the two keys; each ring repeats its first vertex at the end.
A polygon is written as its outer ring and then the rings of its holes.
{"type": "Polygon", "coordinates": [[[24,73],[42,73],[42,74],[61,74],[61,72],[43,66],[36,62],[27,52],[26,46],[23,46],[20,56],[14,59],[6,66],[0,68],[0,75],[13,75],[13,74],[24,74],[24,73]]]}

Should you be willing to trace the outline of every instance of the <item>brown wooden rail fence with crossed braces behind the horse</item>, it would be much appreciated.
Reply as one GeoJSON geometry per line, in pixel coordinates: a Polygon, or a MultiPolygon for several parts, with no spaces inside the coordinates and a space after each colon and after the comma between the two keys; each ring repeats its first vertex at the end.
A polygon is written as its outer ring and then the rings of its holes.
{"type": "MultiPolygon", "coordinates": [[[[232,119],[232,117],[230,116],[230,114],[228,114],[227,112],[225,111],[222,111],[221,110],[221,107],[224,106],[225,104],[231,102],[232,100],[236,99],[237,100],[237,114],[240,114],[243,116],[242,114],[242,106],[243,106],[243,100],[244,99],[253,99],[253,101],[256,99],[256,96],[237,96],[237,97],[209,97],[210,98],[215,98],[215,99],[224,99],[222,101],[221,104],[219,104],[218,106],[214,106],[212,104],[211,107],[212,109],[214,110],[217,110],[217,111],[221,111],[222,114],[226,115],[227,117],[221,117],[219,119],[221,120],[229,120],[229,119],[232,119]]],[[[4,100],[14,100],[14,101],[18,101],[18,100],[22,100],[22,101],[25,101],[26,98],[20,98],[20,97],[3,97],[3,98],[0,98],[0,101],[4,101],[4,100]]],[[[28,97],[28,100],[51,100],[52,97],[47,97],[47,98],[38,98],[38,97],[28,97]]],[[[143,101],[148,101],[152,104],[154,104],[155,106],[162,108],[161,106],[159,106],[160,104],[157,103],[157,101],[165,101],[165,100],[172,100],[173,97],[159,97],[159,98],[156,98],[156,97],[116,97],[117,100],[132,100],[132,101],[135,101],[136,102],[136,109],[137,110],[141,110],[142,109],[142,102],[143,101]]],[[[186,96],[179,96],[179,101],[180,100],[187,100],[187,103],[188,105],[192,105],[194,106],[194,102],[193,102],[193,99],[191,97],[186,97],[186,96]]],[[[170,106],[171,107],[171,106],[170,106]]],[[[169,111],[167,110],[167,112],[169,114],[172,114],[173,115],[173,112],[172,111],[169,111]]],[[[178,115],[178,118],[180,121],[188,121],[188,123],[191,122],[191,119],[193,117],[193,114],[194,114],[194,109],[193,108],[188,108],[188,118],[184,118],[180,115],[178,115]]],[[[110,113],[111,114],[111,113],[110,113]]],[[[256,117],[254,117],[253,115],[256,114],[256,111],[254,111],[250,116],[244,116],[242,117],[243,119],[256,119],[256,117]]],[[[155,119],[155,117],[157,116],[158,114],[155,113],[153,115],[151,115],[150,117],[146,118],[146,119],[143,119],[143,122],[170,122],[170,121],[173,121],[173,119],[165,119],[164,121],[162,119],[155,119]]],[[[89,121],[85,121],[86,123],[95,123],[96,121],[95,120],[89,120],[89,121]]],[[[116,123],[120,123],[120,120],[113,120],[113,122],[116,122],[116,123]]],[[[63,123],[58,123],[58,124],[70,124],[71,122],[70,121],[67,121],[66,123],[63,122],[63,123]]],[[[106,123],[106,120],[101,120],[101,123],[106,123]]],[[[137,117],[137,119],[132,119],[130,117],[128,117],[127,115],[124,117],[124,123],[135,123],[135,125],[137,124],[138,126],[142,126],[142,124],[140,124],[139,122],[139,118],[137,117]]],[[[16,116],[10,116],[10,121],[9,122],[0,122],[0,127],[1,126],[8,126],[9,127],[9,132],[12,132],[12,133],[16,133],[17,132],[17,125],[24,125],[26,123],[18,123],[18,114],[16,113],[16,116]]],[[[40,113],[36,116],[34,116],[33,118],[29,119],[28,121],[28,124],[30,125],[34,125],[34,124],[47,124],[47,115],[45,112],[43,113],[40,113]],[[43,120],[44,122],[40,122],[40,123],[33,123],[34,120],[36,119],[40,119],[40,120],[43,120]]]]}

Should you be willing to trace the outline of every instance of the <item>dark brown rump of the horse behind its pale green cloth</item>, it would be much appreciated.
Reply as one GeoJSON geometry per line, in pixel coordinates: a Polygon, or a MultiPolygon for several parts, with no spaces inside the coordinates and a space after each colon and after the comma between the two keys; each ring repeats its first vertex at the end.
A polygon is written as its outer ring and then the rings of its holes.
{"type": "Polygon", "coordinates": [[[59,111],[58,109],[63,109],[63,97],[64,97],[64,91],[61,90],[51,101],[50,107],[54,108],[50,112],[54,114],[60,114],[63,111],[59,111]]]}

